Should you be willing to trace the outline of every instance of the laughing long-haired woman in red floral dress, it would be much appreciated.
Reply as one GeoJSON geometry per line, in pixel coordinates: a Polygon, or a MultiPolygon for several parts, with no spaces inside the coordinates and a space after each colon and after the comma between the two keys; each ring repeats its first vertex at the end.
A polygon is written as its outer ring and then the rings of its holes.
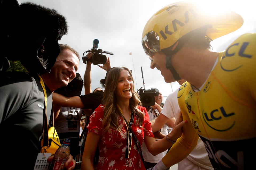
{"type": "Polygon", "coordinates": [[[93,170],[97,146],[97,169],[145,169],[136,141],[140,148],[144,140],[149,152],[157,155],[173,145],[171,141],[181,136],[181,128],[186,124],[183,121],[176,125],[168,134],[168,139],[155,141],[148,113],[144,107],[139,106],[140,100],[134,91],[132,74],[126,67],[113,67],[108,71],[103,104],[90,116],[82,157],[83,170],[93,170]]]}

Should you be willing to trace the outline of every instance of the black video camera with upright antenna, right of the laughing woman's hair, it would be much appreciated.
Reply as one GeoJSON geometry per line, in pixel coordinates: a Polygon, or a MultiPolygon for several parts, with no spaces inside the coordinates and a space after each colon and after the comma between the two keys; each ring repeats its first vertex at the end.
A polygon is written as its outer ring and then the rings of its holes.
{"type": "Polygon", "coordinates": [[[151,88],[151,89],[145,90],[143,71],[142,71],[142,67],[140,68],[141,68],[144,89],[142,89],[141,87],[137,91],[137,93],[140,96],[141,105],[143,107],[149,108],[150,106],[155,105],[155,96],[159,94],[159,90],[157,88],[151,88]]]}

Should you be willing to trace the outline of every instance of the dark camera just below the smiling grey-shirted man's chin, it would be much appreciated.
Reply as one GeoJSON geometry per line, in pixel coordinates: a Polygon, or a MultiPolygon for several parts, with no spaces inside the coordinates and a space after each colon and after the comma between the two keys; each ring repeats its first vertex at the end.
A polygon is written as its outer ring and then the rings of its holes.
{"type": "Polygon", "coordinates": [[[81,78],[79,73],[76,73],[76,77],[70,83],[68,83],[67,86],[58,88],[54,92],[67,97],[79,96],[81,94],[83,86],[83,79],[81,78]]]}

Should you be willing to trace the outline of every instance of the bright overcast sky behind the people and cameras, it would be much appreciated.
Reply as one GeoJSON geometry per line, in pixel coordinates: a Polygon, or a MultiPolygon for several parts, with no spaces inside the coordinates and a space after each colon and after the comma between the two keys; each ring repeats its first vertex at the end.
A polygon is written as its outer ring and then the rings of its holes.
{"type": "MultiPolygon", "coordinates": [[[[110,57],[111,66],[126,66],[132,70],[135,80],[135,89],[143,87],[141,69],[143,68],[145,88],[158,88],[163,96],[172,92],[170,83],[165,83],[164,78],[157,69],[150,69],[150,60],[146,56],[142,45],[141,36],[143,28],[148,19],[160,8],[176,1],[161,0],[18,0],[22,2],[33,2],[49,8],[56,9],[66,17],[69,31],[59,41],[60,44],[68,44],[76,49],[82,57],[86,50],[93,46],[93,40],[100,41],[99,48],[114,53],[110,57]],[[132,52],[132,56],[129,53],[132,52]],[[133,62],[132,62],[133,57],[133,62]],[[134,67],[133,67],[134,64],[134,67]]],[[[200,1],[197,1],[200,2],[200,1]]],[[[255,1],[207,1],[208,9],[217,5],[219,9],[230,8],[239,13],[243,19],[243,26],[237,31],[212,41],[213,51],[222,51],[243,33],[256,32],[255,1]]],[[[80,60],[78,73],[83,78],[86,65],[80,60]]],[[[92,65],[92,90],[100,87],[100,79],[105,77],[106,71],[96,65],[92,65]]],[[[173,90],[179,84],[172,83],[173,90]]],[[[84,88],[82,91],[84,94],[84,88]]],[[[165,99],[164,99],[165,101],[165,99]]]]}

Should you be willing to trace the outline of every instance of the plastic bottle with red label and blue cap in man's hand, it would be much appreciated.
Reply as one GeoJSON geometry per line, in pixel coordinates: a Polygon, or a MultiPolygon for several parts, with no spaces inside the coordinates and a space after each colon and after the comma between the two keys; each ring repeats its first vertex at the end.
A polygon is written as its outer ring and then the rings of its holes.
{"type": "Polygon", "coordinates": [[[61,170],[64,169],[64,164],[69,158],[70,154],[70,139],[65,139],[63,144],[57,149],[54,154],[53,161],[48,170],[61,170]]]}

